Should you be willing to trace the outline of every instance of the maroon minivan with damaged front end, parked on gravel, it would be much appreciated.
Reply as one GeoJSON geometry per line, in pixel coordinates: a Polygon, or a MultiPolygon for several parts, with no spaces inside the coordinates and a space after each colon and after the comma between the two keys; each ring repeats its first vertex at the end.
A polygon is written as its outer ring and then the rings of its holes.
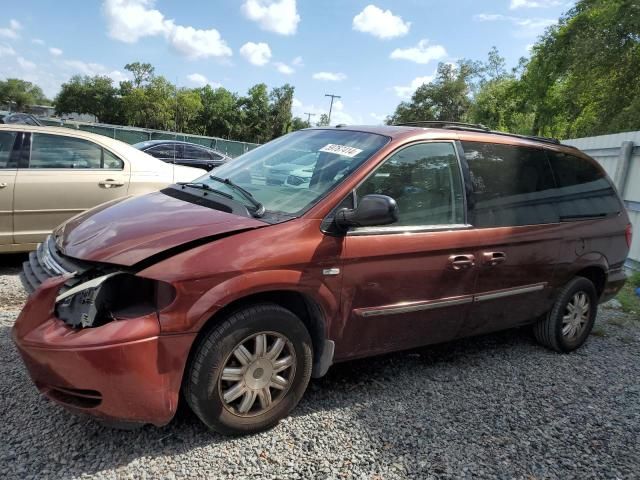
{"type": "Polygon", "coordinates": [[[578,348],[630,241],[605,172],[557,141],[308,129],[60,226],[25,262],[13,335],[72,410],[163,425],[182,394],[208,427],[253,432],[335,362],[526,324],[578,348]],[[267,182],[265,163],[289,170],[267,182]]]}

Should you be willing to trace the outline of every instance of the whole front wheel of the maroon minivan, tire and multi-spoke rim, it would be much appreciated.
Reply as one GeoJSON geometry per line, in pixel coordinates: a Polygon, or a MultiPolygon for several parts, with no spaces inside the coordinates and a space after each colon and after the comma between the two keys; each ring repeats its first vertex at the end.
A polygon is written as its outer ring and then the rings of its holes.
{"type": "Polygon", "coordinates": [[[302,321],[275,304],[237,311],[199,343],[185,379],[194,413],[224,434],[267,429],[302,397],[312,368],[302,321]]]}

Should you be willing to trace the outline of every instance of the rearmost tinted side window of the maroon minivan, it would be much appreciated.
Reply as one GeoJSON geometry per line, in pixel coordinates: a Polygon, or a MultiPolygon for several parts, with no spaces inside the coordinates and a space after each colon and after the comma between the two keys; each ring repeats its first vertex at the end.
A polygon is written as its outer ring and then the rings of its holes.
{"type": "Polygon", "coordinates": [[[548,152],[558,184],[561,221],[602,217],[622,209],[604,171],[590,161],[560,152],[548,152]]]}

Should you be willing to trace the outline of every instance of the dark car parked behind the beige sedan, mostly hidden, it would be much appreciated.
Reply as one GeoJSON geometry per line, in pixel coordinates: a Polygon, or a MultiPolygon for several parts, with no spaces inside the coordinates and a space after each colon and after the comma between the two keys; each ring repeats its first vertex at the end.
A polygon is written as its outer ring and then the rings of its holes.
{"type": "Polygon", "coordinates": [[[149,140],[133,145],[149,155],[167,163],[213,170],[231,160],[231,157],[197,143],[174,140],[149,140]]]}

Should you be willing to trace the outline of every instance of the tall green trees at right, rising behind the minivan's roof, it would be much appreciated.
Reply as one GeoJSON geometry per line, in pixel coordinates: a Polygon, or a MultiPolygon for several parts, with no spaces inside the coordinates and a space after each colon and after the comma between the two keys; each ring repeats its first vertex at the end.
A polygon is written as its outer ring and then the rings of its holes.
{"type": "Polygon", "coordinates": [[[640,130],[640,3],[579,0],[512,70],[440,64],[387,123],[462,121],[557,138],[640,130]]]}

